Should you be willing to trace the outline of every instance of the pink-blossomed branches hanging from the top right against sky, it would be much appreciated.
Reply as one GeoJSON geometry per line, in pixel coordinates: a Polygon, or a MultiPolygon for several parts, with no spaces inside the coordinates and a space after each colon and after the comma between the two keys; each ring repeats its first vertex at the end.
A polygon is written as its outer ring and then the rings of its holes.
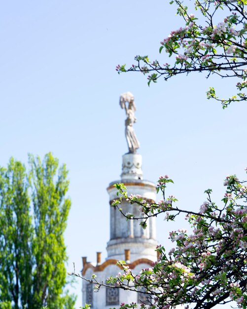
{"type": "Polygon", "coordinates": [[[245,101],[247,94],[247,0],[195,0],[194,13],[180,0],[177,14],[184,25],[172,31],[160,42],[160,53],[164,51],[172,61],[165,58],[149,60],[148,56],[136,56],[136,63],[126,69],[118,65],[120,72],[141,72],[148,74],[148,85],[158,78],[168,80],[179,74],[206,72],[207,77],[217,74],[220,77],[235,77],[238,82],[236,95],[228,99],[219,99],[213,87],[207,92],[208,98],[214,98],[226,108],[231,102],[245,101]],[[223,11],[222,11],[223,10],[223,11]],[[222,18],[222,12],[224,17],[222,18]]]}

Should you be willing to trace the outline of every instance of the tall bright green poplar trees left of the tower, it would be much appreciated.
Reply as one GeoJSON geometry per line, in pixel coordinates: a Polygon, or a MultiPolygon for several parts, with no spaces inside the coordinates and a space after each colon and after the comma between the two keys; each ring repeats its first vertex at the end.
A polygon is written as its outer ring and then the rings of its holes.
{"type": "Polygon", "coordinates": [[[64,291],[63,233],[71,207],[66,166],[29,156],[0,168],[0,309],[73,308],[64,291]]]}

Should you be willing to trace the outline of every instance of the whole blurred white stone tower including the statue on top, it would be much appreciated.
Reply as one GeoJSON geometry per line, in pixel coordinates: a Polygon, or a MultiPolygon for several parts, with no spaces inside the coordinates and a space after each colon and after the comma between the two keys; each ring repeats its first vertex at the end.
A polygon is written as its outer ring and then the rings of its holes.
{"type": "MultiPolygon", "coordinates": [[[[113,200],[119,198],[115,184],[124,183],[128,193],[139,194],[147,202],[154,202],[156,199],[156,186],[150,181],[143,180],[142,157],[136,151],[140,144],[136,138],[133,123],[136,121],[134,111],[136,110],[134,96],[124,93],[120,97],[120,106],[125,109],[127,118],[125,120],[125,135],[129,152],[122,157],[121,180],[113,181],[109,184],[107,192],[110,204],[110,239],[107,242],[107,257],[102,263],[101,253],[97,252],[97,263],[88,263],[83,257],[82,275],[90,279],[92,274],[97,275],[99,282],[106,282],[106,278],[116,275],[121,271],[116,265],[117,261],[124,260],[134,273],[139,273],[141,269],[149,267],[157,260],[155,251],[156,226],[155,218],[147,220],[147,227],[143,230],[139,220],[128,220],[120,213],[116,206],[111,206],[113,200]],[[126,102],[129,106],[126,107],[126,102]]],[[[121,202],[123,213],[132,213],[140,216],[139,205],[129,204],[126,199],[121,202]]],[[[82,297],[83,305],[91,304],[93,309],[109,309],[118,306],[120,303],[140,303],[145,301],[144,294],[112,289],[102,286],[98,293],[93,293],[94,285],[83,281],[82,297]]]]}

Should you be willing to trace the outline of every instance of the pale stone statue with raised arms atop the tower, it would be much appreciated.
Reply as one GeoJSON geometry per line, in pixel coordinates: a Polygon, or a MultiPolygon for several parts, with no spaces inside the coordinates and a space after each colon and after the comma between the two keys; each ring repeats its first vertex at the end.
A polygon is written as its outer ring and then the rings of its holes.
{"type": "Polygon", "coordinates": [[[134,96],[131,92],[125,92],[120,96],[120,106],[125,109],[127,118],[125,119],[125,136],[129,148],[129,154],[135,154],[137,149],[140,148],[140,143],[136,137],[133,124],[137,121],[134,115],[136,111],[136,105],[134,102],[134,96]],[[126,102],[129,103],[128,108],[126,102]]]}

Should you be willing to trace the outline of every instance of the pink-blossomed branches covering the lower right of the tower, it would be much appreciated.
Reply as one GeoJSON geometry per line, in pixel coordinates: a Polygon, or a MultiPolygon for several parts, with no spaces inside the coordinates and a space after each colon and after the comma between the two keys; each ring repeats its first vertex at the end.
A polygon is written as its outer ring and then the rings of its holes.
{"type": "MultiPolygon", "coordinates": [[[[246,168],[247,170],[247,168],[246,168]]],[[[120,199],[118,207],[127,220],[145,221],[152,216],[165,214],[165,220],[174,221],[185,214],[192,231],[184,229],[170,232],[176,246],[166,252],[158,246],[160,256],[153,267],[133,273],[125,262],[122,273],[107,279],[112,288],[122,288],[144,293],[147,301],[142,309],[172,309],[183,305],[186,309],[211,309],[218,304],[235,302],[239,308],[247,308],[247,186],[236,175],[227,176],[226,193],[222,205],[211,198],[212,190],[206,190],[207,200],[198,212],[178,208],[175,196],[166,196],[165,189],[173,181],[161,176],[157,191],[163,198],[158,203],[146,202],[140,195],[128,196],[123,184],[117,184],[120,199]],[[140,217],[125,214],[121,200],[140,206],[140,217]],[[140,292],[141,289],[141,292],[140,292]]],[[[92,280],[99,290],[103,284],[95,275],[92,280]]],[[[136,308],[137,304],[124,304],[120,308],[136,308]]]]}

